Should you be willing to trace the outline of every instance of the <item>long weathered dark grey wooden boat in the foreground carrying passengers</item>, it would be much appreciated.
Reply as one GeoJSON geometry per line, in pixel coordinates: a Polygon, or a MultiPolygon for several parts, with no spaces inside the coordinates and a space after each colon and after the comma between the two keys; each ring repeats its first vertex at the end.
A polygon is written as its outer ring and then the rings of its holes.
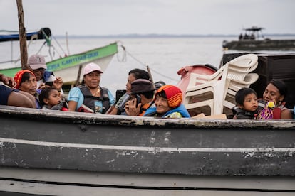
{"type": "Polygon", "coordinates": [[[294,195],[295,121],[0,106],[0,195],[294,195]]]}

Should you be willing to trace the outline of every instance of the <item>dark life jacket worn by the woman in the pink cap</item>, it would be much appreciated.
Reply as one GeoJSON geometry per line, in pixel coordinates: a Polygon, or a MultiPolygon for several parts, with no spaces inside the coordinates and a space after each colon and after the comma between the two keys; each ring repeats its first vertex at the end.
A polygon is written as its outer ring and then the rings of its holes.
{"type": "MultiPolygon", "coordinates": [[[[86,107],[92,109],[94,113],[98,112],[98,109],[95,109],[95,100],[100,101],[103,103],[103,111],[102,114],[105,114],[106,111],[110,108],[110,99],[108,97],[108,89],[104,87],[100,87],[100,94],[102,97],[95,97],[91,94],[90,89],[86,87],[85,85],[80,85],[78,88],[81,90],[84,101],[83,104],[86,105],[86,107]]],[[[87,112],[83,107],[80,107],[78,111],[87,112]]]]}

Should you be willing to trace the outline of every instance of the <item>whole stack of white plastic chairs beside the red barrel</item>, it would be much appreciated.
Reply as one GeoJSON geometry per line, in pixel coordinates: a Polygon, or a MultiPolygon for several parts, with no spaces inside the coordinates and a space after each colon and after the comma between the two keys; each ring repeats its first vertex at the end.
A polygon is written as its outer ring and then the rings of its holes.
{"type": "Polygon", "coordinates": [[[212,75],[191,73],[184,99],[186,109],[209,107],[206,115],[222,114],[224,107],[231,109],[236,92],[257,81],[258,75],[250,73],[257,65],[257,55],[247,54],[227,62],[212,75]]]}

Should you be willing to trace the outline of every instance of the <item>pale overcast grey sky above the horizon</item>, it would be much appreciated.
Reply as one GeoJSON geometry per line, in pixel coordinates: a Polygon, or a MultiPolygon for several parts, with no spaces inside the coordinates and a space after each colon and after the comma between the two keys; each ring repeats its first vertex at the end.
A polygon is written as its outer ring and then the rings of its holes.
{"type": "MultiPolygon", "coordinates": [[[[55,36],[295,34],[294,0],[22,0],[28,31],[55,36]]],[[[0,30],[19,30],[16,0],[0,0],[0,30]]]]}

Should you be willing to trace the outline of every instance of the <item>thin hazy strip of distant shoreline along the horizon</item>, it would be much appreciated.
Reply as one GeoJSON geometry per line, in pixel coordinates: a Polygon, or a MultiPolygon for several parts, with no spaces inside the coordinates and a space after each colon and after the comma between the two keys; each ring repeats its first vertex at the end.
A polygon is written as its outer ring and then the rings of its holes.
{"type": "MultiPolygon", "coordinates": [[[[236,37],[237,35],[169,35],[169,34],[118,34],[118,35],[105,35],[105,36],[95,36],[95,35],[68,35],[68,38],[226,38],[226,37],[236,37]]],[[[295,34],[264,34],[264,37],[288,37],[295,36],[295,34]]],[[[66,36],[55,36],[56,38],[65,38],[66,36]]]]}

